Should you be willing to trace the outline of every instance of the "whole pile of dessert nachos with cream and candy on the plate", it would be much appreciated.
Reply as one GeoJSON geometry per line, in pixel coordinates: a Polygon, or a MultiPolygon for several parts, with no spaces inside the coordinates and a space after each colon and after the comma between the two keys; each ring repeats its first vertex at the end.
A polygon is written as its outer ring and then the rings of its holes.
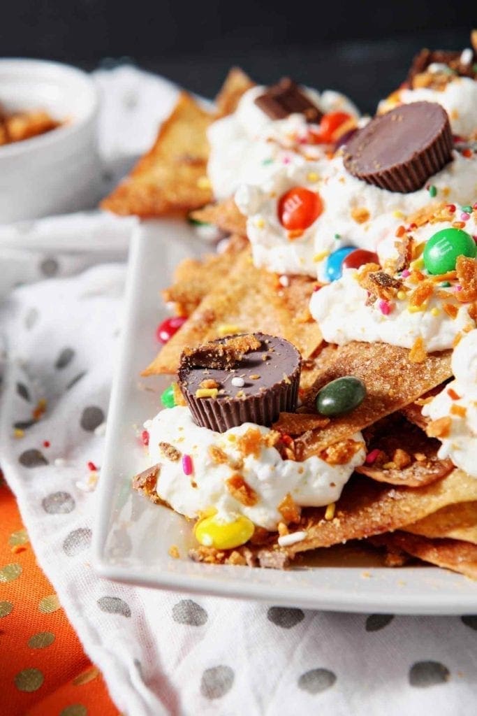
{"type": "MultiPolygon", "coordinates": [[[[171,374],[134,488],[190,557],[284,568],[359,541],[477,579],[477,36],[361,117],[233,69],[183,93],[103,202],[220,239],[177,266],[144,375],[171,374]]],[[[172,553],[176,553],[173,549],[172,553]]]]}

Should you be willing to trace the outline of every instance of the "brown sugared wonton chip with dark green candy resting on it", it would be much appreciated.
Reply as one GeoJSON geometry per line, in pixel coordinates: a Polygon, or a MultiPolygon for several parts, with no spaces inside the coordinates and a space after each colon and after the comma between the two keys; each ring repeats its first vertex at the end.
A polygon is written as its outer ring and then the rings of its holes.
{"type": "Polygon", "coordinates": [[[413,363],[409,351],[387,343],[351,342],[327,347],[325,369],[303,397],[310,412],[320,388],[346,375],[360,378],[367,390],[365,400],[355,410],[332,418],[323,430],[306,436],[303,458],[325,450],[333,442],[351,437],[354,432],[373,425],[385,415],[400,410],[423,393],[451,377],[451,351],[429,355],[422,363],[413,363]]]}

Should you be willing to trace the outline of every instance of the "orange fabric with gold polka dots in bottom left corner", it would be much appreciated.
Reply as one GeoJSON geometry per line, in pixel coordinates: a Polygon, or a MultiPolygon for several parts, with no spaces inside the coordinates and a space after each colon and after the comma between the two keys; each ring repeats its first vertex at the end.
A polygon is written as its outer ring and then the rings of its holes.
{"type": "Polygon", "coordinates": [[[119,714],[36,563],[1,472],[0,714],[119,714]]]}

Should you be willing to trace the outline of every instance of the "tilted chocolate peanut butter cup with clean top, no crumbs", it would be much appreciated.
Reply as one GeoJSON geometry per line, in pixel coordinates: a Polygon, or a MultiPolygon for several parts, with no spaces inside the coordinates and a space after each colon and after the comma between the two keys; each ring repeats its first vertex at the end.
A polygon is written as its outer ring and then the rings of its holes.
{"type": "Polygon", "coordinates": [[[400,105],[374,117],[345,147],[350,174],[388,191],[410,193],[452,159],[446,110],[435,102],[400,105]]]}

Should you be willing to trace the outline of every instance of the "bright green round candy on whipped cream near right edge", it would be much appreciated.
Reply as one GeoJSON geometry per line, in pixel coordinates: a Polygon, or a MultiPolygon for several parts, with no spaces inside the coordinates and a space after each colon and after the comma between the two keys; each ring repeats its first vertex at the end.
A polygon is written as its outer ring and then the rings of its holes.
{"type": "Polygon", "coordinates": [[[475,258],[476,242],[461,228],[443,228],[435,233],[424,248],[424,266],[430,274],[446,274],[456,268],[458,256],[475,258]]]}

